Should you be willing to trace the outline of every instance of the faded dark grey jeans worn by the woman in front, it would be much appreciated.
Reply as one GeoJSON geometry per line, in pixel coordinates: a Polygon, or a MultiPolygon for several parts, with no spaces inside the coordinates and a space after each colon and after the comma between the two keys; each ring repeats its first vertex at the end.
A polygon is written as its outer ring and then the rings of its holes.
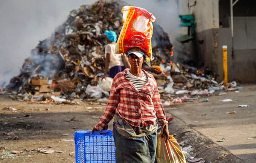
{"type": "Polygon", "coordinates": [[[117,163],[154,163],[157,131],[144,137],[123,138],[114,126],[117,163]]]}

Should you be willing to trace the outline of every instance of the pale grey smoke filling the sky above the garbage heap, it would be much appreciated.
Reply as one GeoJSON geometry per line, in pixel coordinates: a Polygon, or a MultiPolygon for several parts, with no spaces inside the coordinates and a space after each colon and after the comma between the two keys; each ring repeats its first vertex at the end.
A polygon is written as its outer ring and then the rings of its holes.
{"type": "MultiPolygon", "coordinates": [[[[145,8],[156,17],[171,42],[178,31],[177,0],[124,0],[132,6],[145,8]]],[[[0,86],[6,86],[18,75],[24,59],[38,41],[46,39],[61,25],[69,11],[95,0],[8,0],[0,6],[0,86]],[[6,84],[4,84],[6,83],[6,84]]]]}

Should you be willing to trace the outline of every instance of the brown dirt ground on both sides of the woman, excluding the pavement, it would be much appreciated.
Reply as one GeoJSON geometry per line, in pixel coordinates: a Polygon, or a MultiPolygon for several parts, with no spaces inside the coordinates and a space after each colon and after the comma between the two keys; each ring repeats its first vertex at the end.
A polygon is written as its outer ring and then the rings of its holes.
{"type": "MultiPolygon", "coordinates": [[[[75,162],[74,132],[91,130],[99,121],[105,105],[106,102],[35,104],[0,95],[0,162],[75,162]],[[4,109],[10,106],[17,110],[4,109]],[[61,153],[38,152],[38,148],[44,147],[61,153]],[[13,154],[15,152],[17,154],[13,154]]],[[[189,140],[187,145],[195,148],[196,157],[207,158],[206,162],[242,162],[178,119],[171,122],[169,130],[178,142],[189,140]]]]}

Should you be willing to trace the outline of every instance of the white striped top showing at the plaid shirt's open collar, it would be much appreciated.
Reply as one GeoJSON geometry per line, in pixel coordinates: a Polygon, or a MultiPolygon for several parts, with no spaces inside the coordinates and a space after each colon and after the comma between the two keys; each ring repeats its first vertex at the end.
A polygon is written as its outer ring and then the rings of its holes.
{"type": "Polygon", "coordinates": [[[127,71],[127,75],[125,78],[129,79],[131,83],[133,83],[133,85],[137,88],[138,91],[142,89],[142,87],[146,84],[148,80],[145,73],[142,77],[138,77],[131,74],[129,70],[127,71]]]}

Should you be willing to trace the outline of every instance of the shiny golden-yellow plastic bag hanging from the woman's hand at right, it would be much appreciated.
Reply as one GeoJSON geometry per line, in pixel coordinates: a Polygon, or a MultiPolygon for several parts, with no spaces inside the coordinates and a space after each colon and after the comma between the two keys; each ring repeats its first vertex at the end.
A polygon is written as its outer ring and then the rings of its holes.
{"type": "Polygon", "coordinates": [[[178,144],[177,140],[169,135],[167,142],[162,138],[163,128],[166,124],[163,125],[162,131],[157,136],[157,152],[156,159],[158,163],[186,163],[185,155],[178,144]]]}

